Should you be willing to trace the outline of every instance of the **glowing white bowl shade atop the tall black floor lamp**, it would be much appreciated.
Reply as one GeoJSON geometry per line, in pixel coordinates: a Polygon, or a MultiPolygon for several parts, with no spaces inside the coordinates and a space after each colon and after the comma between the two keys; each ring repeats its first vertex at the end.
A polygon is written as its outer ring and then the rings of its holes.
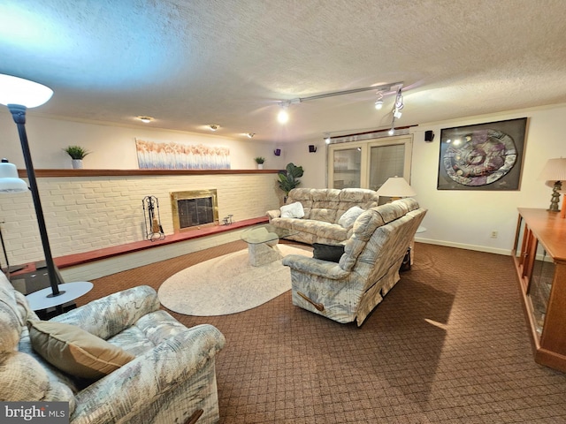
{"type": "Polygon", "coordinates": [[[53,90],[28,79],[0,74],[0,104],[19,104],[27,108],[50,100],[53,90]]]}

